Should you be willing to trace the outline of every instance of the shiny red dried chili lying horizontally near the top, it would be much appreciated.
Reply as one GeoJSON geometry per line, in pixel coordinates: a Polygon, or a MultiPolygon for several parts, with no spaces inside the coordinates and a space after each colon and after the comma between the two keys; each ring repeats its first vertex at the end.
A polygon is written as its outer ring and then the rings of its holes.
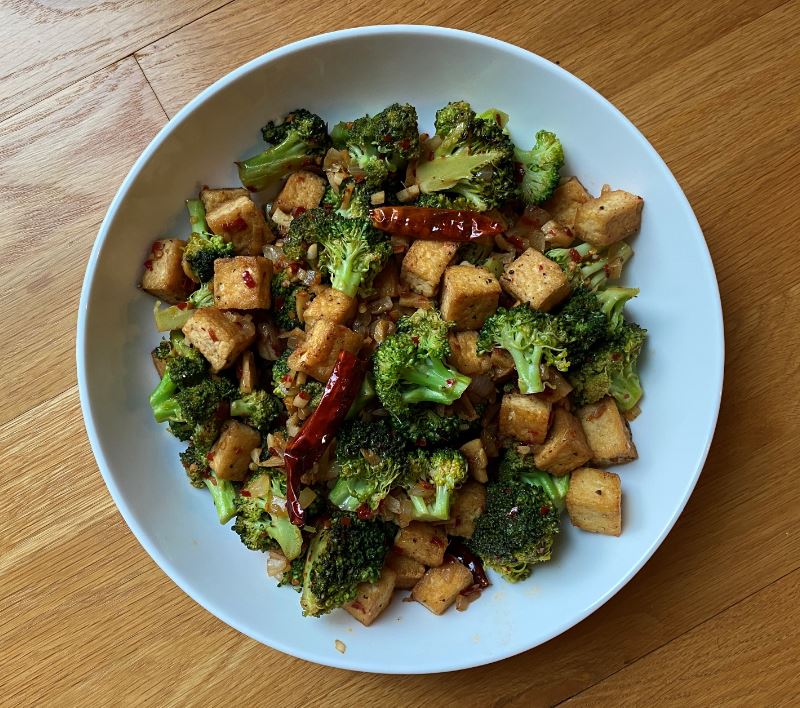
{"type": "Polygon", "coordinates": [[[497,219],[475,211],[430,207],[377,207],[370,210],[376,229],[429,241],[474,241],[504,230],[497,219]]]}

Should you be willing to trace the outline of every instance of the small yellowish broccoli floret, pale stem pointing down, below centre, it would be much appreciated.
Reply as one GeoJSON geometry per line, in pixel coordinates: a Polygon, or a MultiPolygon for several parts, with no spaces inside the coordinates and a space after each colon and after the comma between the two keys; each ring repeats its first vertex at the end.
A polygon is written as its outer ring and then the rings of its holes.
{"type": "Polygon", "coordinates": [[[457,450],[416,450],[408,458],[403,488],[419,521],[447,521],[453,490],[467,477],[467,461],[457,450]]]}

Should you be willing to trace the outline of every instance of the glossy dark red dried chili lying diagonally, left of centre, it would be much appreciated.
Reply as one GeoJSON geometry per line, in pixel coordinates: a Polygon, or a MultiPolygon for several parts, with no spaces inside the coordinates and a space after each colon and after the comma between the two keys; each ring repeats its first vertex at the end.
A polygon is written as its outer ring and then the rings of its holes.
{"type": "Polygon", "coordinates": [[[299,500],[300,477],[322,457],[339,432],[339,426],[353,405],[363,378],[364,362],[355,354],[340,352],[319,405],[286,446],[283,453],[286,463],[286,509],[289,520],[295,526],[302,526],[305,520],[299,500]]]}

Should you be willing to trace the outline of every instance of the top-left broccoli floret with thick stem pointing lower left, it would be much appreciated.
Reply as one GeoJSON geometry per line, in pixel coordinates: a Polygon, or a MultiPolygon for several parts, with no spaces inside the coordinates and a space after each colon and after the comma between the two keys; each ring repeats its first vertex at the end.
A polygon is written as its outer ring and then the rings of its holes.
{"type": "Polygon", "coordinates": [[[269,147],[236,163],[239,179],[251,192],[266,189],[302,167],[319,164],[330,145],[325,121],[304,108],[288,113],[280,123],[270,121],[261,135],[269,147]]]}

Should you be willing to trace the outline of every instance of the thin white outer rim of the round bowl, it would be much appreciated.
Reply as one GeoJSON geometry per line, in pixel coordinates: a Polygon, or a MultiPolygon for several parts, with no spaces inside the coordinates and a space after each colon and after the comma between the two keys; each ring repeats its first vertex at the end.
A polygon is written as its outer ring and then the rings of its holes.
{"type": "MultiPolygon", "coordinates": [[[[81,292],[80,298],[80,305],[78,311],[78,331],[77,331],[77,346],[76,346],[76,356],[77,356],[77,369],[78,369],[78,388],[80,394],[80,402],[81,402],[81,409],[83,411],[83,417],[86,425],[87,434],[89,437],[89,441],[92,447],[92,451],[95,455],[95,458],[98,463],[98,467],[100,469],[101,474],[103,475],[103,479],[108,487],[109,492],[111,493],[114,502],[117,505],[122,517],[125,519],[126,523],[128,524],[131,531],[133,531],[136,538],[145,548],[145,550],[150,554],[150,556],[155,560],[155,562],[159,565],[159,567],[190,597],[192,597],[198,604],[201,604],[205,609],[207,609],[212,614],[215,614],[219,617],[222,621],[227,623],[228,625],[234,627],[235,629],[239,630],[243,634],[247,634],[248,636],[253,637],[254,639],[258,639],[251,634],[247,627],[241,625],[241,623],[234,621],[231,617],[226,616],[226,613],[222,612],[219,607],[211,608],[208,607],[200,597],[198,597],[193,591],[190,584],[183,578],[179,573],[175,572],[174,569],[171,567],[171,563],[168,559],[166,559],[162,553],[158,550],[156,544],[152,541],[149,532],[147,529],[140,525],[134,514],[131,513],[128,504],[125,501],[124,496],[120,493],[120,490],[115,483],[113,475],[109,471],[109,465],[106,459],[106,455],[103,450],[103,443],[101,442],[93,418],[93,409],[92,409],[92,402],[89,400],[89,396],[87,393],[87,381],[89,378],[87,366],[86,366],[86,342],[87,342],[87,331],[86,331],[86,322],[87,322],[87,313],[89,308],[89,303],[91,300],[92,294],[92,287],[94,281],[94,274],[95,268],[97,265],[98,257],[103,249],[104,243],[106,241],[106,237],[108,236],[108,232],[110,229],[110,225],[114,219],[114,215],[117,212],[120,203],[126,196],[131,184],[137,179],[139,173],[142,171],[144,165],[148,162],[151,155],[156,151],[156,149],[161,145],[162,142],[176,129],[178,125],[180,125],[187,116],[189,116],[199,105],[204,103],[210,96],[215,94],[221,88],[227,86],[228,84],[236,81],[239,77],[256,70],[260,66],[265,63],[269,63],[274,59],[279,57],[283,57],[286,55],[293,54],[295,52],[305,50],[309,47],[323,45],[326,43],[337,42],[342,39],[349,39],[352,37],[364,37],[364,36],[371,36],[371,35],[381,35],[381,34],[405,34],[405,35],[419,35],[419,36],[438,36],[438,37],[455,37],[455,38],[462,38],[467,39],[468,41],[483,45],[487,47],[493,47],[495,49],[502,49],[504,51],[510,52],[512,54],[516,54],[518,56],[524,57],[528,61],[533,61],[539,64],[540,68],[545,71],[556,73],[560,76],[565,82],[572,83],[580,87],[583,91],[588,91],[589,93],[594,95],[595,100],[600,101],[601,103],[605,104],[605,108],[613,112],[618,120],[624,124],[626,124],[630,129],[635,139],[641,143],[641,147],[643,147],[647,152],[651,153],[655,162],[660,165],[661,170],[663,170],[664,177],[669,180],[675,188],[675,192],[679,195],[681,201],[681,208],[685,212],[683,216],[689,221],[689,223],[693,224],[697,230],[697,236],[701,240],[703,240],[702,232],[700,230],[700,226],[697,223],[697,219],[692,212],[692,209],[686,200],[680,186],[677,184],[675,178],[672,176],[671,172],[664,164],[664,162],[660,159],[658,154],[656,153],[655,149],[650,145],[650,143],[642,136],[642,134],[633,126],[633,124],[619,111],[617,110],[612,104],[610,104],[605,98],[603,98],[599,93],[594,91],[591,87],[587,86],[584,82],[582,82],[577,77],[570,74],[565,69],[562,69],[560,66],[549,62],[546,59],[539,57],[527,50],[521,49],[520,47],[508,44],[506,42],[502,42],[497,39],[493,39],[490,37],[486,37],[483,35],[465,32],[462,30],[455,30],[449,28],[441,28],[441,27],[431,27],[431,26],[422,26],[422,25],[379,25],[379,26],[369,26],[369,27],[359,27],[353,29],[346,29],[340,30],[336,32],[330,32],[327,34],[317,35],[314,37],[309,37],[307,39],[303,39],[292,44],[288,44],[286,46],[280,47],[275,49],[271,52],[268,52],[252,61],[244,64],[243,66],[235,69],[234,71],[230,72],[223,78],[219,79],[217,82],[212,84],[210,87],[202,91],[196,98],[190,101],[186,106],[184,106],[160,131],[159,133],[153,138],[151,143],[145,149],[145,151],[141,154],[139,159],[136,161],[134,166],[131,168],[128,175],[122,182],[119,190],[117,191],[116,195],[114,196],[113,201],[109,207],[108,213],[106,214],[102,225],[100,226],[100,230],[95,241],[94,247],[92,249],[92,253],[89,257],[86,275],[83,282],[83,288],[81,292]]],[[[547,641],[552,639],[553,637],[561,634],[562,632],[566,631],[570,627],[574,626],[581,620],[583,620],[586,616],[591,614],[594,610],[604,604],[609,598],[611,598],[614,594],[616,594],[638,571],[639,569],[649,560],[661,542],[664,540],[665,536],[669,533],[675,521],[677,520],[680,513],[683,511],[683,508],[688,501],[689,496],[691,495],[692,490],[697,482],[697,478],[700,475],[700,471],[702,470],[703,464],[705,463],[706,457],[708,455],[708,450],[711,444],[711,440],[713,437],[714,428],[716,426],[717,415],[719,411],[719,402],[722,395],[722,381],[723,381],[723,362],[724,362],[724,341],[723,341],[723,326],[722,326],[722,308],[719,300],[719,291],[716,285],[716,277],[714,274],[714,268],[711,262],[710,255],[708,253],[707,247],[703,249],[705,254],[705,263],[703,264],[703,268],[706,271],[706,274],[710,281],[713,283],[713,292],[715,296],[715,302],[709,303],[709,306],[712,307],[716,313],[717,318],[715,322],[715,326],[719,332],[719,348],[716,352],[707,352],[707,355],[710,357],[714,357],[719,361],[718,370],[718,377],[714,381],[706,382],[709,391],[710,391],[710,398],[713,398],[714,401],[714,413],[709,419],[708,430],[704,431],[703,437],[706,440],[706,444],[703,449],[698,450],[697,454],[697,463],[696,468],[693,473],[693,477],[691,479],[690,484],[686,487],[685,496],[680,503],[679,506],[675,508],[674,514],[669,519],[668,523],[666,523],[663,528],[661,529],[660,533],[653,539],[652,544],[646,550],[646,552],[641,556],[638,563],[633,565],[629,572],[627,572],[623,577],[620,577],[619,580],[608,589],[607,592],[599,596],[596,601],[585,608],[585,610],[579,616],[571,616],[568,621],[565,621],[563,624],[555,627],[553,631],[549,633],[549,635],[540,641],[540,638],[537,639],[535,642],[526,642],[525,639],[521,641],[515,641],[509,643],[507,647],[504,647],[502,650],[495,651],[494,653],[487,654],[484,657],[484,660],[480,663],[490,663],[493,661],[497,661],[500,659],[507,658],[509,656],[513,656],[518,654],[522,651],[532,648],[537,644],[542,643],[542,641],[547,641]]],[[[338,668],[348,668],[352,669],[353,665],[351,662],[341,655],[338,654],[319,654],[313,651],[306,651],[303,649],[298,648],[297,645],[292,643],[287,643],[284,640],[273,639],[271,641],[271,645],[284,653],[306,659],[308,661],[313,661],[321,664],[325,664],[328,666],[338,667],[338,668]]],[[[457,669],[468,668],[471,666],[480,665],[480,663],[476,663],[474,661],[469,663],[459,663],[458,657],[453,656],[449,663],[441,663],[439,664],[434,671],[451,671],[457,669]]],[[[377,669],[367,669],[367,670],[377,670],[377,669]]],[[[425,671],[426,669],[421,669],[425,671]]],[[[394,672],[391,666],[386,666],[381,669],[381,671],[386,673],[394,672]]]]}

